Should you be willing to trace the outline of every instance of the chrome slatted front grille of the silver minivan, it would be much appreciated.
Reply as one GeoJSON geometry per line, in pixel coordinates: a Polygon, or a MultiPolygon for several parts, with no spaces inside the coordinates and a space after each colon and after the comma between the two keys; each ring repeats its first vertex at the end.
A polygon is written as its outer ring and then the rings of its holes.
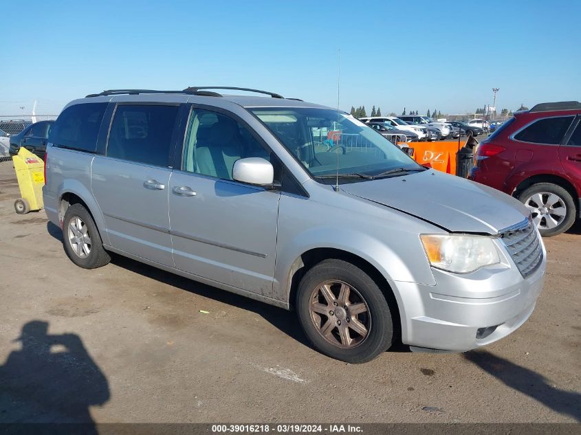
{"type": "Polygon", "coordinates": [[[502,232],[501,239],[523,277],[536,271],[542,260],[542,249],[538,232],[529,219],[502,232]]]}

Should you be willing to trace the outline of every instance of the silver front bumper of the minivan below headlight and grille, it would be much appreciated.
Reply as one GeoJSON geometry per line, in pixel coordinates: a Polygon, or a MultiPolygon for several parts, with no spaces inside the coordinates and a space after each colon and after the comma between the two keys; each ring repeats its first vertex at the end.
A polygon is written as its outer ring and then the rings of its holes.
{"type": "Polygon", "coordinates": [[[394,282],[402,299],[402,342],[412,348],[464,352],[516,331],[534,311],[542,290],[546,252],[543,247],[540,266],[526,279],[505,260],[466,276],[433,269],[434,286],[394,282]]]}

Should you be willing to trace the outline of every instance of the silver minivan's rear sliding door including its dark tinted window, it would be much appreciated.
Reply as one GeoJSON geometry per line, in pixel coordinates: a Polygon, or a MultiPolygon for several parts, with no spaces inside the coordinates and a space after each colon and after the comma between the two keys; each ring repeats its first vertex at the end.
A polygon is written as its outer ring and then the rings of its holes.
{"type": "Polygon", "coordinates": [[[107,154],[96,156],[91,187],[111,245],[173,266],[169,234],[170,148],[177,105],[119,104],[107,154]]]}

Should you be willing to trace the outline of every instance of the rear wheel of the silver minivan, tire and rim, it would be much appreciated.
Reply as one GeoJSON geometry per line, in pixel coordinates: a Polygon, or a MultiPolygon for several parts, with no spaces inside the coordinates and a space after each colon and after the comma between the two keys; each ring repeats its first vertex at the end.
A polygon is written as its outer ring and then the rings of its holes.
{"type": "Polygon", "coordinates": [[[97,225],[83,205],[73,204],[65,212],[63,243],[67,256],[77,266],[95,269],[111,260],[103,248],[97,225]]]}

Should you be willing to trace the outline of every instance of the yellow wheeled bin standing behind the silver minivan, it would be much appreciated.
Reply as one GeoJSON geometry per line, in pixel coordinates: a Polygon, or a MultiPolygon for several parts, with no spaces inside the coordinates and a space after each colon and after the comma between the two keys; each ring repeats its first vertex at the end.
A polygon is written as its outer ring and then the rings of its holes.
{"type": "Polygon", "coordinates": [[[45,184],[45,164],[40,157],[21,147],[18,154],[12,156],[18,186],[22,198],[14,201],[14,210],[25,214],[30,210],[43,208],[43,186],[45,184]]]}

